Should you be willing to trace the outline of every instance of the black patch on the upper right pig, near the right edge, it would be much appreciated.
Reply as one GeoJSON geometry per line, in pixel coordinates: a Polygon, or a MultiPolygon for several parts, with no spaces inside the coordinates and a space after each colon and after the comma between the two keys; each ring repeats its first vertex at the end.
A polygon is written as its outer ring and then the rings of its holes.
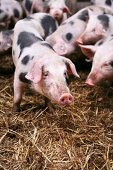
{"type": "Polygon", "coordinates": [[[105,29],[109,27],[109,17],[107,15],[99,15],[98,19],[101,21],[105,29]]]}

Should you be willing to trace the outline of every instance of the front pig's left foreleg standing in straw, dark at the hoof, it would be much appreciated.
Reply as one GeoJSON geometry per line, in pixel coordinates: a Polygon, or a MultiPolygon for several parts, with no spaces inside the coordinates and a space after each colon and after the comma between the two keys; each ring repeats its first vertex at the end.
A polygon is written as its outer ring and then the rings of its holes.
{"type": "Polygon", "coordinates": [[[20,103],[22,100],[22,94],[24,89],[24,83],[22,83],[17,76],[14,78],[14,104],[13,104],[13,112],[20,111],[20,103]]]}

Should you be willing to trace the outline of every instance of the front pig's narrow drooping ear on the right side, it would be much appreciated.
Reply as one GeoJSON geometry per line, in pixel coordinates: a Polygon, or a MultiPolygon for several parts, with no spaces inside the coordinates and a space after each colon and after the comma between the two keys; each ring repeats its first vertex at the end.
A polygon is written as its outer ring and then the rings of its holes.
{"type": "Polygon", "coordinates": [[[72,73],[76,77],[80,77],[76,71],[75,65],[72,63],[72,61],[68,58],[63,57],[63,61],[67,64],[67,67],[69,68],[69,72],[72,73]]]}

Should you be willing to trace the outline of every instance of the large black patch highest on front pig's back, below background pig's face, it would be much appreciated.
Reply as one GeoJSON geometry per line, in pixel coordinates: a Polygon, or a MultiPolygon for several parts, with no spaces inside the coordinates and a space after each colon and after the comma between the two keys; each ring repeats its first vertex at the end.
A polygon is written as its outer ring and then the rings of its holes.
{"type": "Polygon", "coordinates": [[[55,19],[49,15],[45,15],[45,17],[41,19],[41,25],[44,29],[44,39],[57,29],[55,19]]]}

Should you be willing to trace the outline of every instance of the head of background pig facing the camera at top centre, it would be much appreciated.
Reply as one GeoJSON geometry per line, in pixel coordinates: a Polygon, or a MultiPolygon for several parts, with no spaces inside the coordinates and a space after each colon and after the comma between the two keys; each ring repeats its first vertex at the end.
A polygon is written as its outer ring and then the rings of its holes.
{"type": "Polygon", "coordinates": [[[65,0],[48,0],[45,12],[53,16],[59,25],[67,19],[67,14],[71,13],[65,0]]]}

